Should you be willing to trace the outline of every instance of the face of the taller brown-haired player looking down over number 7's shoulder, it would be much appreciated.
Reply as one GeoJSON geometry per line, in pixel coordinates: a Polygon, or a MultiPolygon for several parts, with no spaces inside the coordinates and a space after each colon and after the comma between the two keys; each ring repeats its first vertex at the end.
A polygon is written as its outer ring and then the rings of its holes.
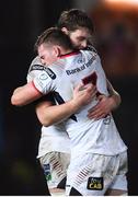
{"type": "Polygon", "coordinates": [[[89,30],[81,27],[73,32],[68,32],[70,39],[76,48],[83,49],[88,46],[89,39],[92,37],[89,30]]]}

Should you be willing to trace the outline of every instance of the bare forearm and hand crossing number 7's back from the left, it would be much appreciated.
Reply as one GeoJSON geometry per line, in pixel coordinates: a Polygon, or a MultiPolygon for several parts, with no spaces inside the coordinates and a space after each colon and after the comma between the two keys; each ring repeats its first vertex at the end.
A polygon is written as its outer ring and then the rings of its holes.
{"type": "Polygon", "coordinates": [[[48,127],[70,117],[82,106],[89,104],[95,94],[96,89],[94,85],[89,84],[85,89],[82,89],[82,85],[80,84],[74,89],[73,99],[69,102],[53,106],[50,102],[41,102],[36,106],[36,115],[42,125],[48,127]]]}

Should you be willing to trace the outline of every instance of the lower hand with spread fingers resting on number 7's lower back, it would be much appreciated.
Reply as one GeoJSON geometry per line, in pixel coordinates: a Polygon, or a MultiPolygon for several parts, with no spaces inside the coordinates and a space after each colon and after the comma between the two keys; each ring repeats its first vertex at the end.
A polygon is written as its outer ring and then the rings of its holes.
{"type": "Polygon", "coordinates": [[[97,97],[97,100],[99,100],[99,103],[94,107],[89,109],[88,117],[90,119],[92,119],[92,118],[94,118],[94,119],[104,118],[114,108],[114,101],[112,97],[108,97],[105,95],[100,95],[97,97]]]}

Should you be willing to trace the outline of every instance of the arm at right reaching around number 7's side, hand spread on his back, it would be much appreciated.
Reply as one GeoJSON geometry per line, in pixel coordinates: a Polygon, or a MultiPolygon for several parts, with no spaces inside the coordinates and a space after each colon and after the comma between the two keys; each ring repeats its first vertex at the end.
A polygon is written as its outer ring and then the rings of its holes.
{"type": "Polygon", "coordinates": [[[99,103],[89,111],[88,117],[100,119],[105,117],[112,111],[117,108],[122,102],[120,95],[114,90],[111,82],[107,80],[107,89],[110,96],[100,95],[99,103]]]}

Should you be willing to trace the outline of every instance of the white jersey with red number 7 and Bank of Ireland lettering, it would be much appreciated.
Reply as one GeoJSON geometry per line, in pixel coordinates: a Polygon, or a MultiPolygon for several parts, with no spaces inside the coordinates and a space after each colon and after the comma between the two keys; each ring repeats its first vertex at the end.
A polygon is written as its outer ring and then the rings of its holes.
{"type": "MultiPolygon", "coordinates": [[[[61,56],[58,61],[46,67],[33,80],[39,92],[47,94],[55,91],[61,102],[67,102],[72,97],[74,86],[81,81],[85,84],[92,81],[96,84],[99,93],[108,95],[106,77],[100,57],[94,51],[80,50],[61,56]]],[[[111,114],[99,120],[87,117],[88,109],[96,103],[95,97],[91,104],[83,106],[66,120],[72,157],[83,152],[114,155],[127,149],[111,114]]]]}

